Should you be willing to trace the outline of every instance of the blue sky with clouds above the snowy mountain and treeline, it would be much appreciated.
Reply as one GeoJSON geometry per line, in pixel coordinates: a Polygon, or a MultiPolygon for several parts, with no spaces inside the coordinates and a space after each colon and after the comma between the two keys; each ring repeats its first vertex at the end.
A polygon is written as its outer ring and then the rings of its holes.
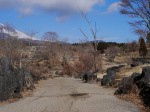
{"type": "Polygon", "coordinates": [[[80,28],[89,29],[80,11],[88,14],[91,24],[97,23],[98,39],[127,42],[137,40],[128,18],[119,13],[119,0],[0,0],[0,23],[10,23],[20,31],[57,32],[70,42],[84,39],[80,28]]]}

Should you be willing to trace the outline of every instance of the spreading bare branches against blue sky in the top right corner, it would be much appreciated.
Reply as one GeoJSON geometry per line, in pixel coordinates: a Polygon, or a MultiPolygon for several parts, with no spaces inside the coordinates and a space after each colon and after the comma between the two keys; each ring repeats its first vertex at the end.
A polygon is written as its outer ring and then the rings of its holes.
{"type": "Polygon", "coordinates": [[[121,13],[136,20],[129,22],[136,34],[146,37],[150,32],[150,0],[121,0],[121,13]]]}

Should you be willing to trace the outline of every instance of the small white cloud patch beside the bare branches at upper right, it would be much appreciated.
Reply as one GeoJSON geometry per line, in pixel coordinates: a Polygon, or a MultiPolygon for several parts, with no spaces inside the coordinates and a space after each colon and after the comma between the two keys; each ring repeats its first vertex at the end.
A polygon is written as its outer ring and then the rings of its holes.
{"type": "Polygon", "coordinates": [[[116,12],[119,10],[119,8],[120,8],[120,2],[115,2],[108,7],[107,13],[116,12]]]}

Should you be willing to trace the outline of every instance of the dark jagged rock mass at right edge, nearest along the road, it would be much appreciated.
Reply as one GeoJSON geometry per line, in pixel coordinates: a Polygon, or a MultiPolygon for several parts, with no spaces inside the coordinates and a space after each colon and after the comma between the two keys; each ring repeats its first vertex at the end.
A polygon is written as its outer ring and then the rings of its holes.
{"type": "Polygon", "coordinates": [[[123,78],[115,94],[127,94],[134,89],[138,89],[144,104],[150,107],[150,67],[144,67],[141,74],[133,73],[123,78]]]}

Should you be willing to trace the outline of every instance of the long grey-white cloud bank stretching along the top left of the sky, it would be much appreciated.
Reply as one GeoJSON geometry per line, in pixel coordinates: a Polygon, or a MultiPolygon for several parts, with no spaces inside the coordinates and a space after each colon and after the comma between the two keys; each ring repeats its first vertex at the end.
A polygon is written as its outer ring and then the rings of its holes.
{"type": "Polygon", "coordinates": [[[0,0],[0,8],[15,8],[25,15],[42,9],[64,19],[70,14],[77,13],[79,9],[88,12],[95,5],[104,2],[105,0],[0,0]]]}

